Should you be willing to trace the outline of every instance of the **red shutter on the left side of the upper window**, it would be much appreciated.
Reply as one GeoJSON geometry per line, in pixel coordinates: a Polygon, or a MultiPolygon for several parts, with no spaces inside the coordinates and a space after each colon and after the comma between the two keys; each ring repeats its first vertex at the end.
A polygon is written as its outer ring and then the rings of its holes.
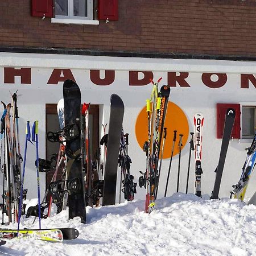
{"type": "Polygon", "coordinates": [[[52,0],[32,0],[32,16],[52,18],[52,0]]]}

